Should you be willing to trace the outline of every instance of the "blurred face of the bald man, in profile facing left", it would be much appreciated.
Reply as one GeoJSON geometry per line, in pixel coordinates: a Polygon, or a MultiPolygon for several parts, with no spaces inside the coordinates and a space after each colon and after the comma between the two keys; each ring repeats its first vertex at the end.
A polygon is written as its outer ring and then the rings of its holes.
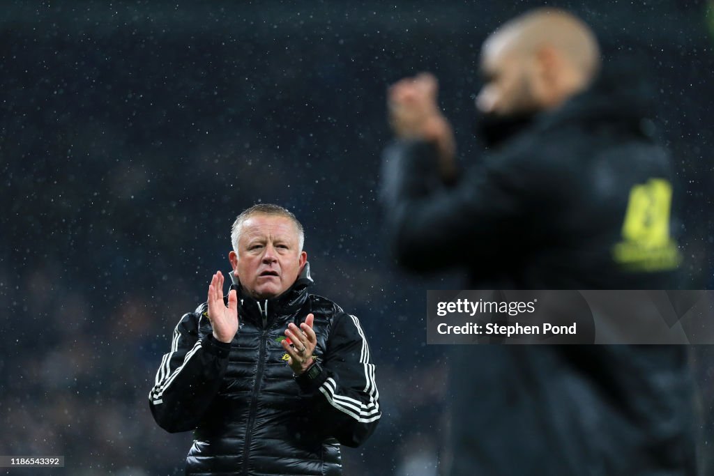
{"type": "Polygon", "coordinates": [[[510,34],[495,36],[483,46],[484,85],[476,98],[481,113],[518,116],[537,109],[533,94],[533,64],[513,47],[510,34]]]}

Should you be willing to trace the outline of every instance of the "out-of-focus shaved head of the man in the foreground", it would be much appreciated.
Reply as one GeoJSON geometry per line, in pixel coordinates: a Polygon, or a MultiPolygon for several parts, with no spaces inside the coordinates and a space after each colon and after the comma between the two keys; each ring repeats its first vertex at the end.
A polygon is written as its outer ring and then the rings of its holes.
{"type": "Polygon", "coordinates": [[[536,9],[506,22],[483,44],[486,85],[476,105],[508,115],[560,106],[600,69],[593,31],[573,14],[536,9]]]}

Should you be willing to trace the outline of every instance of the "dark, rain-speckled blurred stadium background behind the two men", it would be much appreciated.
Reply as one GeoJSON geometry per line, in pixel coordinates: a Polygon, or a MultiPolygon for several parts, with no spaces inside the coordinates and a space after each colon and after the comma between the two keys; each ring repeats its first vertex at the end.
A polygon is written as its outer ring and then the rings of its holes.
{"type": "MultiPolygon", "coordinates": [[[[316,293],[371,340],[383,421],[343,452],[345,474],[435,474],[448,369],[425,344],[425,290],[461,277],[393,267],[376,196],[385,90],[436,73],[468,163],[481,42],[540,4],[4,2],[0,454],[66,456],[64,470],[9,473],[183,474],[191,435],[157,427],[147,395],[172,328],[228,269],[233,218],[263,201],[303,221],[316,293]]],[[[650,71],[687,285],[712,288],[714,4],[549,4],[650,71]]],[[[711,471],[714,352],[694,363],[711,471]]]]}

